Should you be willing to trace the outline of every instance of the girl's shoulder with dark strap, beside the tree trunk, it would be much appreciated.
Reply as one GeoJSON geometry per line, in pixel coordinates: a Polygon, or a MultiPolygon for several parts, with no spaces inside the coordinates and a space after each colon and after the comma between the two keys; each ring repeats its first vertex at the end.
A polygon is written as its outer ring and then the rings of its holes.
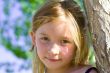
{"type": "Polygon", "coordinates": [[[98,73],[98,70],[93,66],[84,65],[73,68],[70,73],[98,73]]]}

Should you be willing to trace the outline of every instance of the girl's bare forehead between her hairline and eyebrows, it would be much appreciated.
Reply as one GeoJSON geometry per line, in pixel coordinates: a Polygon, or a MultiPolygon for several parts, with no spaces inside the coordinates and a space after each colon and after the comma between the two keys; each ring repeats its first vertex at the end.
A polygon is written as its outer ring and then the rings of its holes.
{"type": "Polygon", "coordinates": [[[41,33],[52,34],[52,35],[62,35],[69,37],[71,35],[72,24],[66,20],[54,20],[45,24],[42,24],[38,31],[41,33]]]}

